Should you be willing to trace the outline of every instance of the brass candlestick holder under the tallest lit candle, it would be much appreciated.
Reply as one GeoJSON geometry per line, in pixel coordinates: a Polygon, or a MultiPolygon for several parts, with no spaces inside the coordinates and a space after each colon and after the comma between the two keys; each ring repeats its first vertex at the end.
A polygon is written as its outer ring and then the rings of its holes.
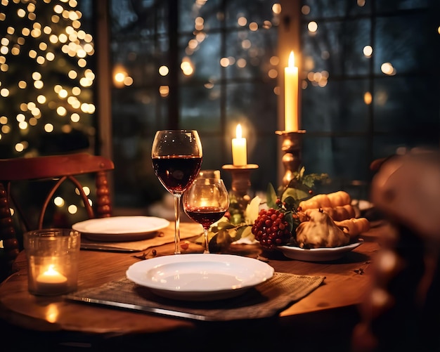
{"type": "Polygon", "coordinates": [[[306,131],[302,129],[295,132],[275,131],[275,133],[283,138],[281,145],[281,150],[284,152],[282,161],[285,169],[283,185],[287,187],[292,181],[294,172],[302,164],[302,136],[306,131]]]}

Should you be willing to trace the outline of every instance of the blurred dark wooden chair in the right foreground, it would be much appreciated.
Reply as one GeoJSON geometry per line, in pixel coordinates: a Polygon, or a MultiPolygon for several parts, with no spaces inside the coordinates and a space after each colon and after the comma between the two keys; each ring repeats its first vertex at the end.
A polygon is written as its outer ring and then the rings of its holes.
{"type": "Polygon", "coordinates": [[[370,199],[389,222],[353,352],[440,351],[440,151],[380,159],[370,199]]]}

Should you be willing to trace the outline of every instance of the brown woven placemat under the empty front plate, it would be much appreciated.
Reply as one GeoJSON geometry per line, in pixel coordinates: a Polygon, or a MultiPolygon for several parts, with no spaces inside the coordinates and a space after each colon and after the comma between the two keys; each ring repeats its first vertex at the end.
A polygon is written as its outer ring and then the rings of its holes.
{"type": "Polygon", "coordinates": [[[150,292],[127,278],[83,289],[65,298],[83,303],[121,306],[135,311],[195,320],[225,321],[270,318],[319,287],[325,276],[275,273],[240,296],[216,301],[176,301],[150,292]]]}

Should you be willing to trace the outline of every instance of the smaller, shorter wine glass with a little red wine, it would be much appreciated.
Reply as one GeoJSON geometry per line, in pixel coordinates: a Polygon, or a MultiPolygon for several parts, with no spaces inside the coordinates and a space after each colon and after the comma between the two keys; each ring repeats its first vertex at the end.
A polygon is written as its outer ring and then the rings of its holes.
{"type": "Polygon", "coordinates": [[[220,220],[228,207],[228,190],[221,178],[197,178],[183,194],[183,210],[186,215],[203,226],[205,235],[203,253],[209,253],[209,226],[220,220]]]}

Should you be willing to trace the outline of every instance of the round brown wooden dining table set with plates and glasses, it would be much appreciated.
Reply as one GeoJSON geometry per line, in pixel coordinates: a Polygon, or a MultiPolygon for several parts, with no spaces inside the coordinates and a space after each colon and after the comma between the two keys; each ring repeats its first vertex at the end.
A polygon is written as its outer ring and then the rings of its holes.
{"type": "MultiPolygon", "coordinates": [[[[164,231],[173,232],[174,223],[164,231]]],[[[0,285],[0,319],[11,333],[23,332],[15,344],[51,341],[65,348],[179,348],[191,351],[266,351],[291,345],[296,351],[349,351],[350,337],[358,322],[358,304],[371,284],[371,264],[380,249],[378,239],[386,223],[373,224],[360,237],[363,244],[341,259],[325,262],[298,261],[281,252],[266,252],[257,245],[231,245],[229,254],[260,259],[278,273],[323,275],[323,284],[274,317],[224,322],[199,322],[128,309],[78,303],[63,296],[34,296],[27,287],[25,251],[15,260],[15,273],[0,285]],[[330,348],[331,347],[331,348],[330,348]],[[122,348],[122,347],[121,347],[122,348]],[[333,349],[334,348],[334,349],[333,349]]],[[[82,250],[79,256],[78,290],[125,278],[132,264],[154,256],[202,253],[195,242],[200,226],[181,223],[181,233],[193,233],[182,254],[174,243],[144,252],[82,250]]],[[[1,325],[0,325],[1,327],[1,325]]],[[[15,345],[14,345],[15,346],[15,345]]],[[[7,351],[7,350],[5,350],[7,351]]]]}

